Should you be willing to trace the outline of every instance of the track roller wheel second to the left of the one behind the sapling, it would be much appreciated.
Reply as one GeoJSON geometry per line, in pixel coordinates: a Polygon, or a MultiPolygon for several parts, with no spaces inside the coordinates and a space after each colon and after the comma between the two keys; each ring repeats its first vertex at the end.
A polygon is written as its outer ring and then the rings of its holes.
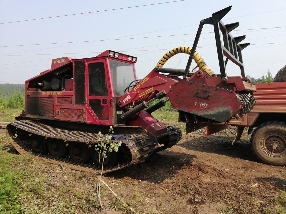
{"type": "Polygon", "coordinates": [[[68,147],[65,145],[63,140],[48,138],[47,146],[49,154],[54,157],[62,158],[67,155],[68,147]]]}

